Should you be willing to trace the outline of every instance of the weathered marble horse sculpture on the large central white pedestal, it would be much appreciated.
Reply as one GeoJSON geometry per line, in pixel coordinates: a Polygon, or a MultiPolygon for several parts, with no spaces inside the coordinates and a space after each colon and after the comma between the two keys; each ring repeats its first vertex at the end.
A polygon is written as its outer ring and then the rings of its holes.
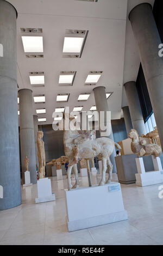
{"type": "Polygon", "coordinates": [[[109,183],[112,179],[112,163],[110,155],[114,151],[115,146],[120,149],[120,145],[107,137],[93,138],[94,131],[77,131],[66,130],[64,131],[64,147],[65,155],[69,159],[67,170],[68,176],[68,190],[76,188],[79,185],[77,162],[78,159],[92,159],[99,154],[102,156],[102,179],[99,186],[109,183]],[[105,182],[106,169],[109,169],[109,178],[105,182]],[[71,185],[71,170],[74,167],[74,175],[76,176],[76,183],[71,185]]]}

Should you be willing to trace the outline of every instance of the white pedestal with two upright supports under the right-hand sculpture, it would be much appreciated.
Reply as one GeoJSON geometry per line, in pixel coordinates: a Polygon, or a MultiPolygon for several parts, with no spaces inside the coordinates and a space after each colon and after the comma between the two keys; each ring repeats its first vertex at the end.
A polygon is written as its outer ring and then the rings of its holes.
{"type": "Polygon", "coordinates": [[[137,167],[137,173],[135,174],[137,186],[145,187],[163,183],[163,171],[160,157],[152,156],[154,166],[153,172],[146,172],[142,157],[136,158],[135,160],[137,167]]]}

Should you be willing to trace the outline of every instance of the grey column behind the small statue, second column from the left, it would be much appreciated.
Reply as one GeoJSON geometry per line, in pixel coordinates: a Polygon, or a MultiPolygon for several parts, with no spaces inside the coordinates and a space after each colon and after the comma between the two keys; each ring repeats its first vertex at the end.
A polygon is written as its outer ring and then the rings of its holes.
{"type": "Polygon", "coordinates": [[[33,100],[32,90],[19,90],[20,100],[20,140],[21,140],[21,160],[22,160],[22,175],[24,183],[24,157],[29,158],[30,181],[36,183],[36,155],[35,155],[35,137],[33,123],[33,100]]]}

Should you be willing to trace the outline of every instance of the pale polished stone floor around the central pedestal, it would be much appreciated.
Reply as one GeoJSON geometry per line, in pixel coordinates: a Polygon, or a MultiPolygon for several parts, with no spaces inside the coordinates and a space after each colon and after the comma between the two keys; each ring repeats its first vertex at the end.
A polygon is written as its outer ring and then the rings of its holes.
{"type": "MultiPolygon", "coordinates": [[[[121,185],[129,220],[68,233],[64,180],[55,177],[56,201],[35,204],[36,185],[22,188],[22,205],[0,211],[0,245],[163,245],[163,199],[159,186],[121,185]]],[[[114,180],[117,180],[114,175],[114,180]]],[[[92,176],[96,184],[99,177],[92,176]]],[[[87,186],[87,178],[80,179],[87,186]]],[[[80,200],[80,198],[79,198],[80,200]]]]}

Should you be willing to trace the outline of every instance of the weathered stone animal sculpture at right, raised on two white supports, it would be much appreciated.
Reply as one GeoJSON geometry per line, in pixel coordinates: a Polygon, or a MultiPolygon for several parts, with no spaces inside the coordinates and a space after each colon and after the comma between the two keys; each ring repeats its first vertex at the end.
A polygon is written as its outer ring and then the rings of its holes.
{"type": "Polygon", "coordinates": [[[160,156],[160,146],[158,144],[147,144],[146,140],[143,138],[140,140],[139,134],[136,130],[131,129],[131,131],[128,133],[128,137],[132,140],[131,150],[138,157],[148,155],[154,155],[155,157],[160,156]]]}

